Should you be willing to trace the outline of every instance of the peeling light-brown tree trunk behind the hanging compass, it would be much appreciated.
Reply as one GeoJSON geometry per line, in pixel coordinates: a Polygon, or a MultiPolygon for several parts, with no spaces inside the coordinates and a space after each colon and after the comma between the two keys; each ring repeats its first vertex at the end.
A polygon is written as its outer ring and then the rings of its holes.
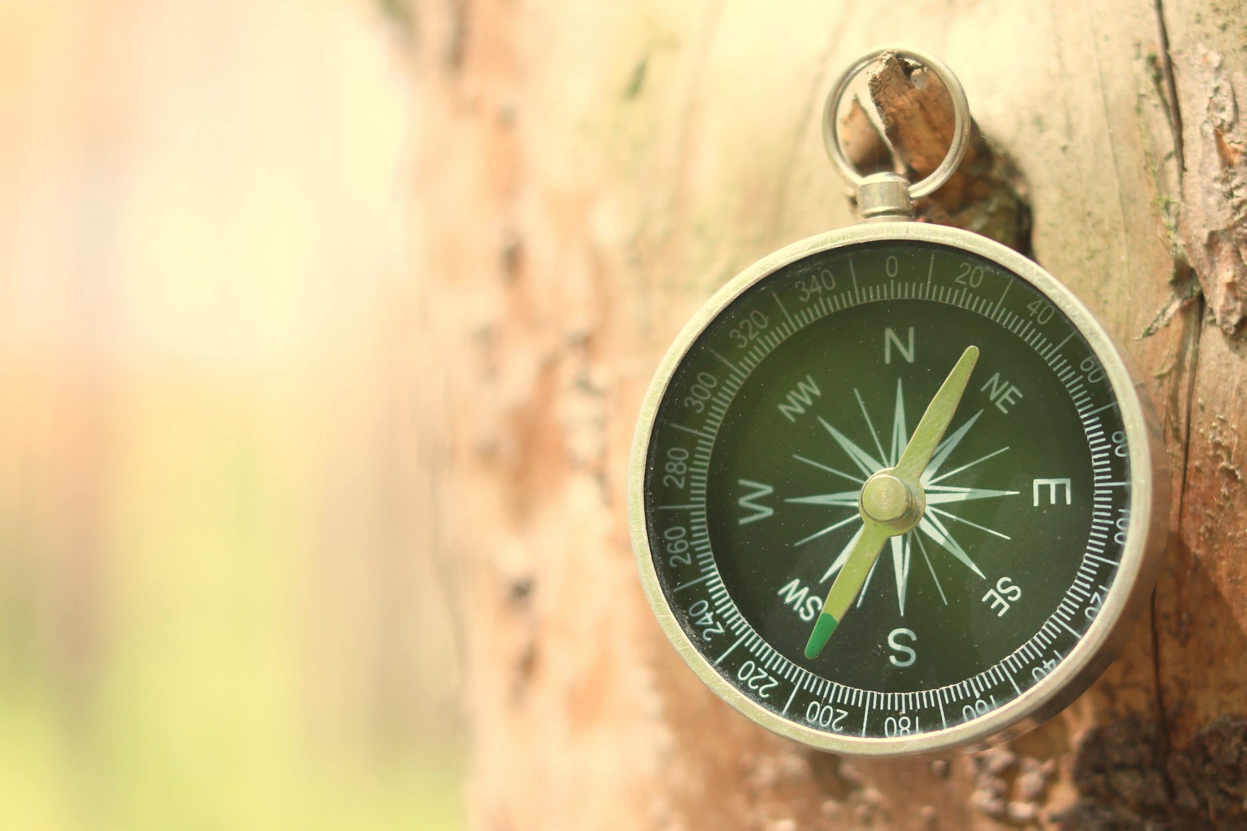
{"type": "Polygon", "coordinates": [[[459,566],[481,829],[1243,827],[1247,1],[419,5],[420,463],[459,566]],[[1166,49],[1167,40],[1167,49],[1166,49]],[[667,645],[626,458],[671,338],[737,270],[853,222],[833,75],[912,42],[1025,182],[1031,254],[1165,426],[1150,620],[1061,716],[978,756],[849,761],[667,645]]]}

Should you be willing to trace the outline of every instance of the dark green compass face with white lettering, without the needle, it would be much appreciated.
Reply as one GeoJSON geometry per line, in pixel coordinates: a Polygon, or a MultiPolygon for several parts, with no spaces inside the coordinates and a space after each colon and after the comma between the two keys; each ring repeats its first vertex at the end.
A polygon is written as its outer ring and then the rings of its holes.
{"type": "Polygon", "coordinates": [[[808,254],[726,305],[657,401],[641,495],[656,602],[768,726],[869,740],[984,719],[1040,694],[1130,591],[1120,409],[1079,329],[993,259],[917,239],[808,254]],[[898,465],[969,346],[920,516],[808,658],[865,481],[898,465]]]}

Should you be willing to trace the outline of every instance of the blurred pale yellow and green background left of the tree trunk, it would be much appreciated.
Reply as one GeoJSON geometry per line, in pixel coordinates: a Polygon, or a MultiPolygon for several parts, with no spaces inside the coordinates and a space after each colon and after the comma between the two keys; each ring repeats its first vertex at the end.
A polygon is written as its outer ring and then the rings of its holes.
{"type": "Polygon", "coordinates": [[[403,16],[0,2],[0,829],[460,826],[403,16]]]}

